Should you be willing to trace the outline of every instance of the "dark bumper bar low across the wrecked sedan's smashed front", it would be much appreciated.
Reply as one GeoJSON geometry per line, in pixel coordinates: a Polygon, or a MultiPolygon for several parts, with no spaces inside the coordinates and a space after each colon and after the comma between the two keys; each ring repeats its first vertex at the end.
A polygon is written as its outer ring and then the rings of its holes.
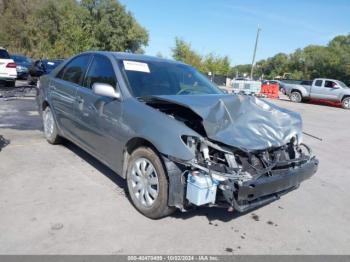
{"type": "Polygon", "coordinates": [[[301,166],[271,171],[270,176],[243,183],[227,181],[222,193],[237,211],[245,212],[278,199],[281,195],[299,187],[300,183],[314,175],[318,160],[310,159],[301,166]]]}

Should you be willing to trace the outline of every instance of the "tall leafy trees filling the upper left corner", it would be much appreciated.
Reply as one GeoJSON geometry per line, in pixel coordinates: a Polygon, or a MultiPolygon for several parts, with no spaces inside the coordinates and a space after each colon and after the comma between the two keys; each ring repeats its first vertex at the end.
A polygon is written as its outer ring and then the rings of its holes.
{"type": "Polygon", "coordinates": [[[0,0],[0,46],[35,58],[142,53],[148,32],[117,0],[0,0]]]}

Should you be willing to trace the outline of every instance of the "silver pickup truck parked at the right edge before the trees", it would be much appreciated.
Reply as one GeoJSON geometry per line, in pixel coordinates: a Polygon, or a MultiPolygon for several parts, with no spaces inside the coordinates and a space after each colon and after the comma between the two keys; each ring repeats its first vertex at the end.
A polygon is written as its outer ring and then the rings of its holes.
{"type": "Polygon", "coordinates": [[[316,78],[311,85],[308,81],[300,84],[286,84],[286,95],[296,103],[309,99],[340,102],[344,109],[350,109],[350,88],[334,79],[316,78]]]}

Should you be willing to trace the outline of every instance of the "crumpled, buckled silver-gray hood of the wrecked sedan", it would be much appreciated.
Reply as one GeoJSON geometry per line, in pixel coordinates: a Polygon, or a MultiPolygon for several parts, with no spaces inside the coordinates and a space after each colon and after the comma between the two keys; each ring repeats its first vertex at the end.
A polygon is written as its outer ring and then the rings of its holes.
{"type": "Polygon", "coordinates": [[[241,95],[165,95],[157,100],[190,108],[203,119],[209,139],[244,151],[285,145],[302,138],[298,113],[265,100],[241,95]]]}

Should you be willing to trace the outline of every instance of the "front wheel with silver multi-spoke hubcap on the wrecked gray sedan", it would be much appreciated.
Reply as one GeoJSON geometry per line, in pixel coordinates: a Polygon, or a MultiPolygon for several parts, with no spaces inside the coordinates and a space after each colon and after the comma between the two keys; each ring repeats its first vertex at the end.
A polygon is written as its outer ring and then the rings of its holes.
{"type": "Polygon", "coordinates": [[[168,179],[158,155],[149,147],[139,147],[130,157],[127,185],[134,207],[146,217],[158,219],[170,215],[168,179]]]}

